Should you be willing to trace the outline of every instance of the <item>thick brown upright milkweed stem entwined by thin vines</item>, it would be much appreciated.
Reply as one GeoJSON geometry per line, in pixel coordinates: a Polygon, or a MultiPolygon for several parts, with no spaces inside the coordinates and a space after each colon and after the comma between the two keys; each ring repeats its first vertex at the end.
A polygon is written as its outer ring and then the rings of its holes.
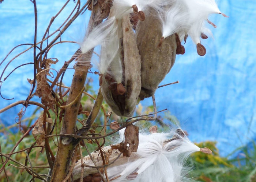
{"type": "MultiPolygon", "coordinates": [[[[95,4],[91,12],[88,32],[90,32],[94,26],[101,23],[103,19],[98,20],[98,16],[97,16],[101,13],[102,13],[102,9],[100,8],[99,4],[98,3],[95,4]]],[[[67,23],[66,26],[69,26],[69,24],[71,24],[70,21],[67,23]]],[[[60,34],[61,33],[62,32],[60,32],[60,34]]],[[[53,41],[55,42],[56,40],[54,39],[53,41]]],[[[54,43],[53,41],[49,44],[49,46],[51,46],[54,43]]],[[[84,83],[86,81],[87,71],[90,68],[89,66],[79,64],[79,62],[84,61],[82,60],[82,58],[87,58],[86,60],[88,60],[88,58],[91,58],[92,54],[93,54],[93,50],[90,50],[86,54],[81,55],[80,58],[78,59],[78,63],[76,64],[75,74],[74,74],[70,91],[69,91],[67,105],[73,102],[76,99],[76,97],[79,95],[79,92],[83,89],[84,83]]],[[[81,96],[79,96],[79,98],[76,100],[74,104],[72,104],[70,107],[65,108],[64,119],[61,127],[61,134],[75,134],[76,118],[78,115],[80,100],[81,100],[81,96]]],[[[75,146],[78,144],[78,142],[79,140],[74,138],[63,137],[63,136],[60,137],[59,150],[57,151],[57,156],[56,156],[56,160],[55,160],[53,171],[52,171],[52,177],[50,180],[51,182],[63,181],[65,179],[65,176],[69,171],[72,154],[74,153],[75,146]]]]}

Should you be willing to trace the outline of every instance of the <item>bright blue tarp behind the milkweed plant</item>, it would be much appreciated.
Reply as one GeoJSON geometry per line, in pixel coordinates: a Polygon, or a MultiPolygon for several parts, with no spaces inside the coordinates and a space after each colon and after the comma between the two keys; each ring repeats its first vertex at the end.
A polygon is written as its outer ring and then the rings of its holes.
{"type": "MultiPolygon", "coordinates": [[[[52,16],[64,1],[38,0],[38,40],[41,39],[52,16]]],[[[54,20],[50,32],[57,29],[67,18],[75,4],[70,1],[67,8],[54,20]]],[[[222,0],[219,9],[229,16],[211,15],[217,28],[210,29],[214,38],[202,40],[206,56],[196,54],[196,47],[189,39],[185,44],[185,55],[177,55],[176,63],[161,84],[179,80],[179,84],[159,88],[155,94],[158,110],[167,108],[180,120],[181,126],[194,142],[215,140],[221,155],[226,156],[242,145],[256,139],[256,1],[222,0]]],[[[61,36],[61,40],[83,39],[89,14],[84,13],[61,36]]],[[[0,61],[18,44],[33,43],[34,7],[29,0],[5,0],[0,4],[0,61]]],[[[182,43],[183,44],[183,43],[182,43]]],[[[0,72],[12,57],[29,46],[17,48],[0,67],[0,72]]],[[[77,50],[76,44],[61,44],[48,53],[48,58],[58,58],[57,70],[77,50]],[[68,46],[67,46],[68,45],[68,46]]],[[[16,66],[33,62],[32,51],[15,59],[5,71],[6,77],[16,66]]],[[[72,65],[70,66],[72,68],[72,65]]],[[[2,85],[0,108],[17,100],[25,100],[30,90],[27,78],[33,79],[32,64],[18,68],[2,85]]],[[[56,72],[53,71],[56,75],[56,72]]],[[[70,85],[74,70],[65,74],[65,84],[70,85]]],[[[92,75],[93,76],[93,75],[92,75]]],[[[3,81],[2,78],[2,81],[3,81]]],[[[95,87],[98,79],[93,76],[95,87]]],[[[145,99],[143,105],[151,105],[145,99]]],[[[6,126],[15,123],[22,106],[11,108],[0,114],[6,126]]],[[[30,106],[26,115],[33,111],[30,106]]]]}

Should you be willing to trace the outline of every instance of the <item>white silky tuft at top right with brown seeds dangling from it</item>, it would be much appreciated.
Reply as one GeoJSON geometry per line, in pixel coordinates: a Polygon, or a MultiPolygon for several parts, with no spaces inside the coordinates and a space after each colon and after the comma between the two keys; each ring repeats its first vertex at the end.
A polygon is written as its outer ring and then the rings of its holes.
{"type": "Polygon", "coordinates": [[[162,11],[163,37],[178,33],[180,40],[184,40],[185,35],[191,36],[195,44],[199,44],[201,33],[211,32],[205,27],[205,22],[212,24],[208,16],[212,13],[223,14],[214,0],[172,0],[167,11],[162,11]],[[207,31],[205,31],[207,30],[207,31]]]}

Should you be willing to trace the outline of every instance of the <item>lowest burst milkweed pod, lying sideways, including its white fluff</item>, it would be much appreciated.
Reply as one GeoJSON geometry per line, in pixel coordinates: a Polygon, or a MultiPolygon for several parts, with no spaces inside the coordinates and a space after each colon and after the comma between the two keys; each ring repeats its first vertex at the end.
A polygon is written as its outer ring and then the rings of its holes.
{"type": "MultiPolygon", "coordinates": [[[[132,125],[131,125],[132,126],[132,125]]],[[[134,127],[134,126],[132,126],[134,127]]],[[[120,139],[116,143],[125,142],[125,128],[119,130],[120,139]]],[[[136,129],[134,130],[136,131],[136,129]]],[[[135,135],[131,132],[132,135],[135,135]]],[[[102,148],[108,159],[108,177],[112,182],[181,182],[185,181],[188,170],[185,161],[195,152],[211,154],[207,148],[200,149],[186,136],[187,132],[176,129],[167,133],[145,134],[139,131],[137,152],[129,157],[121,155],[113,146],[102,148]],[[118,155],[120,155],[119,158],[118,155]]],[[[116,140],[116,139],[115,139],[116,140]]],[[[130,142],[131,143],[131,142],[130,142]]],[[[100,151],[91,153],[97,166],[102,166],[100,151]]],[[[86,165],[94,166],[90,156],[83,157],[86,165]]],[[[103,170],[99,168],[99,170],[103,170]]],[[[83,177],[97,173],[96,168],[84,166],[83,177]]],[[[81,161],[79,160],[72,172],[74,180],[80,178],[81,161]]]]}

